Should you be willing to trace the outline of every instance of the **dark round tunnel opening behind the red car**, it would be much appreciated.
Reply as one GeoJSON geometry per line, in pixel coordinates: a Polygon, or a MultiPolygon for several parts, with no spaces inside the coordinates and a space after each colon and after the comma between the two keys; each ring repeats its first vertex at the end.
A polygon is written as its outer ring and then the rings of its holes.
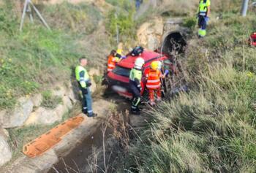
{"type": "Polygon", "coordinates": [[[187,41],[181,31],[172,31],[166,34],[162,42],[162,53],[173,55],[184,53],[187,47],[187,41]]]}

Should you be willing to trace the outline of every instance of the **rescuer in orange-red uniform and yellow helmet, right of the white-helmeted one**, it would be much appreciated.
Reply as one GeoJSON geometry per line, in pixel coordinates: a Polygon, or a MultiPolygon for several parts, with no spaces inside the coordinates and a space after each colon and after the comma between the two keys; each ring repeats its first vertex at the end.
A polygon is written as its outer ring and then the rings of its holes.
{"type": "Polygon", "coordinates": [[[149,92],[149,104],[154,106],[154,93],[157,92],[157,101],[161,100],[161,80],[160,78],[165,78],[169,71],[165,71],[165,74],[162,74],[159,71],[159,61],[153,61],[151,63],[151,69],[146,72],[146,87],[149,92]]]}

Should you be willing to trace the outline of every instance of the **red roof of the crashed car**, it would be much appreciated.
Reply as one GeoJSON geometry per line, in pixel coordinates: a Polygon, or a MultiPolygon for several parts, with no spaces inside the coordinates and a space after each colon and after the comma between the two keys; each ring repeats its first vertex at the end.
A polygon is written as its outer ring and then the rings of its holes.
{"type": "Polygon", "coordinates": [[[132,69],[134,64],[135,64],[135,60],[138,57],[143,58],[144,61],[145,61],[145,66],[147,66],[148,63],[151,63],[151,61],[154,61],[154,60],[157,61],[159,58],[164,57],[164,55],[161,55],[159,53],[155,53],[155,52],[152,52],[152,51],[145,50],[139,56],[128,55],[127,58],[121,60],[118,63],[118,66],[122,66],[122,67],[127,68],[127,69],[132,69]]]}

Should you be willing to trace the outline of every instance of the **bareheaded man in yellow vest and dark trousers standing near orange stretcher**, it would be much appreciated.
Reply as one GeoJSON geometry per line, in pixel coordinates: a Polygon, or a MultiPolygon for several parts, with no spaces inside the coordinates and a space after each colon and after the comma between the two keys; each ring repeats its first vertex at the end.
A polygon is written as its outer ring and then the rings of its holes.
{"type": "Polygon", "coordinates": [[[87,59],[83,56],[79,59],[79,63],[80,65],[75,68],[75,78],[78,81],[80,91],[82,91],[83,113],[87,114],[88,117],[96,117],[97,114],[92,110],[91,91],[89,88],[91,86],[91,82],[89,74],[85,69],[87,59]]]}

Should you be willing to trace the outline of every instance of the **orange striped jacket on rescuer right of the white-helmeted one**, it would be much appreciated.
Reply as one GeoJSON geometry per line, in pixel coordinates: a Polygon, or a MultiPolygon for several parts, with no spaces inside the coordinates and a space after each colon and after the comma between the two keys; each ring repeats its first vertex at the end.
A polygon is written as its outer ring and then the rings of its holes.
{"type": "Polygon", "coordinates": [[[161,72],[159,70],[150,70],[147,74],[147,82],[146,82],[146,87],[148,89],[157,89],[161,86],[161,72]]]}

